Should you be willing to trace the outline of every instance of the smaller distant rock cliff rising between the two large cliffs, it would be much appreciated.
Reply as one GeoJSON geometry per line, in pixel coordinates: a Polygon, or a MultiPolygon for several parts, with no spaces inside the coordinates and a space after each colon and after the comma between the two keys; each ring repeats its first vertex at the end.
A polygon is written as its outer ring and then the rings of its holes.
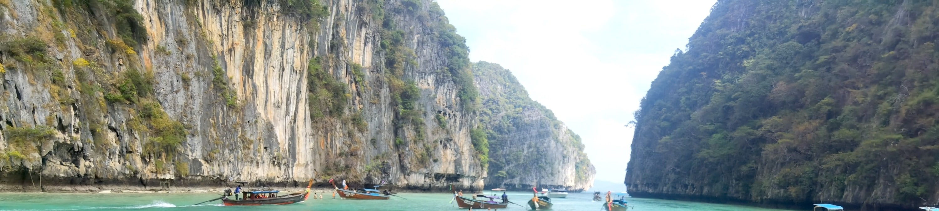
{"type": "MultiPolygon", "coordinates": [[[[473,142],[488,143],[486,188],[531,190],[593,186],[595,170],[580,137],[531,100],[508,69],[477,62],[472,66],[483,109],[473,142]],[[482,138],[482,137],[485,137],[482,138]]],[[[486,151],[486,150],[483,150],[486,151]]]]}

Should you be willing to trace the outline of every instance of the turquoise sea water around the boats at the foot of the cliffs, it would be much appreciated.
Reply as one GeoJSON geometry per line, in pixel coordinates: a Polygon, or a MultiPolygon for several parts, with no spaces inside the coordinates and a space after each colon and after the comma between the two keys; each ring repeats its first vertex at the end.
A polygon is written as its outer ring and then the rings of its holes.
{"type": "MultiPolygon", "coordinates": [[[[488,191],[486,191],[488,193],[488,191]]],[[[459,211],[453,194],[447,193],[400,193],[408,200],[393,197],[391,200],[340,200],[331,199],[326,192],[324,199],[311,199],[306,203],[262,206],[222,206],[220,202],[204,203],[217,198],[215,193],[0,193],[0,210],[316,210],[316,211],[459,211]]],[[[571,193],[565,199],[553,199],[555,211],[598,211],[602,203],[591,202],[593,192],[571,193]]],[[[509,200],[525,204],[531,193],[509,192],[509,200]]],[[[680,201],[627,198],[635,211],[779,211],[739,205],[716,203],[689,203],[680,201]]],[[[509,204],[503,210],[526,210],[509,204]]]]}

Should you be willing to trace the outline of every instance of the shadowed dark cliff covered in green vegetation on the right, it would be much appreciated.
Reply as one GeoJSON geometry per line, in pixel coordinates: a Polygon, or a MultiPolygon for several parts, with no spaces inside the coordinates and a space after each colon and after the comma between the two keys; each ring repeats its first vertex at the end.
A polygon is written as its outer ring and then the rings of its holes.
{"type": "Polygon", "coordinates": [[[936,203],[937,4],[717,1],[636,113],[630,195],[936,203]]]}

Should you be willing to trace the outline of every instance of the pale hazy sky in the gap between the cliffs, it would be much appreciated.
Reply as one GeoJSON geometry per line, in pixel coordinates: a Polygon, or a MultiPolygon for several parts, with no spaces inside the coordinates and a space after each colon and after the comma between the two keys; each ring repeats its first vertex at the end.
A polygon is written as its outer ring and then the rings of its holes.
{"type": "Polygon", "coordinates": [[[623,182],[639,100],[715,0],[437,0],[472,61],[512,70],[583,138],[596,179],[623,182]]]}

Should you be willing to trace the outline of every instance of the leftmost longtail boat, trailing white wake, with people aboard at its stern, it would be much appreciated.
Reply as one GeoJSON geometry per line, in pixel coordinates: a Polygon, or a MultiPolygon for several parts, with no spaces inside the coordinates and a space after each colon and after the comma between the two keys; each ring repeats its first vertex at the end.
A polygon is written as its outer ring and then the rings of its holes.
{"type": "Polygon", "coordinates": [[[238,193],[235,193],[235,199],[229,199],[227,195],[229,195],[228,192],[230,191],[226,190],[226,197],[223,197],[222,204],[230,206],[303,203],[306,202],[306,198],[310,196],[310,187],[312,186],[313,180],[310,180],[310,185],[306,186],[305,191],[290,193],[282,196],[277,195],[280,190],[245,190],[240,192],[240,198],[238,193]]]}

